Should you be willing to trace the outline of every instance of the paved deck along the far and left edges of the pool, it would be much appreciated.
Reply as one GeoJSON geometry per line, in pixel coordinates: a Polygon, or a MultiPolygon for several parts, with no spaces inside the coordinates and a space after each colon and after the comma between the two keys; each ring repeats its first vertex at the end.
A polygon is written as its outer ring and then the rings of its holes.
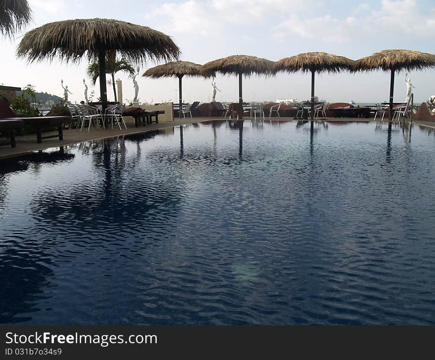
{"type": "MultiPolygon", "coordinates": [[[[45,150],[51,147],[59,147],[64,145],[71,145],[71,144],[77,144],[82,143],[86,141],[93,141],[93,140],[101,140],[101,139],[107,139],[107,138],[116,138],[119,136],[124,135],[131,135],[131,134],[139,134],[139,133],[145,133],[148,131],[153,130],[160,130],[160,129],[168,129],[172,128],[174,126],[180,126],[184,124],[192,124],[192,123],[198,123],[198,122],[204,122],[204,121],[212,121],[212,120],[225,120],[222,117],[193,117],[193,118],[182,118],[182,119],[175,119],[174,121],[170,122],[161,122],[158,124],[149,124],[146,126],[140,126],[140,127],[134,127],[134,123],[127,122],[127,129],[120,130],[119,128],[113,128],[108,130],[91,130],[87,132],[87,130],[79,131],[76,129],[68,129],[63,131],[63,138],[64,140],[59,140],[57,138],[52,139],[46,139],[41,144],[38,144],[36,142],[36,134],[29,134],[29,135],[23,135],[23,136],[17,136],[16,137],[16,147],[11,147],[10,145],[2,145],[0,146],[0,159],[6,158],[10,156],[16,156],[20,154],[29,153],[32,151],[41,151],[45,150]]],[[[245,121],[254,121],[251,118],[245,118],[245,121]]],[[[276,122],[276,121],[298,121],[293,118],[286,118],[281,117],[279,119],[272,118],[271,120],[264,120],[265,122],[276,122]]],[[[327,118],[326,121],[361,121],[361,122],[373,122],[373,119],[366,119],[366,118],[327,118]]],[[[422,125],[429,128],[435,129],[435,123],[431,122],[424,122],[424,121],[413,121],[414,125],[422,125]]],[[[47,132],[44,133],[45,135],[55,135],[57,132],[47,132]]]]}

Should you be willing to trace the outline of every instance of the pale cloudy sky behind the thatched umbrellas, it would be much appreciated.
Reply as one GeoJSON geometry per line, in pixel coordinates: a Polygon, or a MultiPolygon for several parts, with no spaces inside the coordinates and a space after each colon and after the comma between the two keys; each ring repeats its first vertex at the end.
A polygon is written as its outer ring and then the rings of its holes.
{"type": "MultiPolygon", "coordinates": [[[[180,60],[197,64],[229,55],[254,55],[272,61],[309,51],[324,51],[350,59],[385,49],[409,49],[435,53],[435,0],[28,0],[33,22],[13,40],[1,38],[0,84],[35,86],[39,92],[63,97],[61,79],[72,95],[71,102],[84,100],[99,87],[86,76],[87,61],[59,61],[28,65],[17,59],[20,37],[46,23],[108,18],[148,26],[171,36],[181,50],[180,60]]],[[[159,63],[142,64],[140,75],[159,63]]],[[[394,101],[406,98],[405,73],[395,76],[394,101]]],[[[132,79],[118,72],[126,102],[134,97],[132,79]]],[[[435,94],[435,71],[412,71],[415,102],[435,94]]],[[[178,102],[178,79],[137,76],[140,102],[178,102]]],[[[238,102],[238,79],[217,74],[216,101],[238,102]]],[[[243,80],[244,101],[275,101],[310,98],[310,75],[278,73],[274,77],[252,76],[243,80]]],[[[390,72],[316,74],[315,95],[328,102],[377,103],[388,101],[390,72]]],[[[113,91],[108,86],[108,99],[113,91]]],[[[183,101],[209,102],[210,79],[183,78],[183,101]]]]}

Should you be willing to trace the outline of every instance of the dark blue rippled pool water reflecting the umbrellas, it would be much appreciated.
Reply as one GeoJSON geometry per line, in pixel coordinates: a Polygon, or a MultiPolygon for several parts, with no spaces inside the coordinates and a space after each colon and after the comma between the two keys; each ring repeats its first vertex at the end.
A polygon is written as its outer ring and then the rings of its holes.
{"type": "Polygon", "coordinates": [[[435,136],[214,122],[0,161],[1,324],[435,324],[435,136]]]}

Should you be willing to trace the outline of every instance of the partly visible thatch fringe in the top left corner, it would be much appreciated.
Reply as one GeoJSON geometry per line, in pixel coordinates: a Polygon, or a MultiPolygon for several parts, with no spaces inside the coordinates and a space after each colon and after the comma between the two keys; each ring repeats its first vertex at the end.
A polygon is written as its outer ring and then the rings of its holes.
{"type": "Polygon", "coordinates": [[[27,0],[0,0],[0,34],[11,37],[32,20],[27,0]]]}

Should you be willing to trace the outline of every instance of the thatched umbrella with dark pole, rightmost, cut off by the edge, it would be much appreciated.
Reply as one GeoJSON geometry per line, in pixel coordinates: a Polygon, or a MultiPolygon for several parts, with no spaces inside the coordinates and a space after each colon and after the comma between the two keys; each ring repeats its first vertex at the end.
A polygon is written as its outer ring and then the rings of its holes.
{"type": "Polygon", "coordinates": [[[355,71],[382,69],[391,71],[390,79],[390,120],[392,119],[392,99],[394,92],[394,72],[400,70],[423,70],[435,67],[435,55],[426,52],[392,49],[382,50],[373,55],[359,59],[355,71]]]}

